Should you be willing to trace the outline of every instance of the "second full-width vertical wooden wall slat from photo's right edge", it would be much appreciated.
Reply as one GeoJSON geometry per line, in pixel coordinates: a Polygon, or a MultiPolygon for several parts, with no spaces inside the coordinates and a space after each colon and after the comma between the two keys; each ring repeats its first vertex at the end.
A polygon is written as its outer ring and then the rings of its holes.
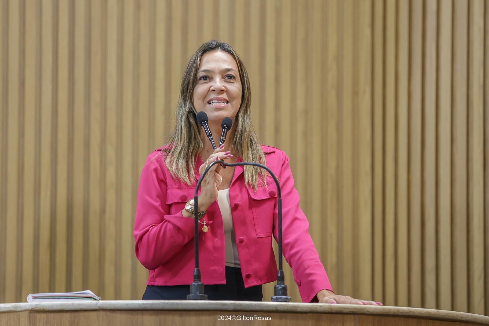
{"type": "Polygon", "coordinates": [[[452,298],[468,311],[467,275],[467,1],[453,2],[452,67],[452,298]]]}

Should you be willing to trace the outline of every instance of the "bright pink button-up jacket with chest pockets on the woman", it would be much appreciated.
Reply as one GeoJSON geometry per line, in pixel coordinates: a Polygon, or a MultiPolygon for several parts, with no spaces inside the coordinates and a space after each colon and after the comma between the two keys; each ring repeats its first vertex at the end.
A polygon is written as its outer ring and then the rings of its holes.
{"type": "MultiPolygon", "coordinates": [[[[283,254],[292,267],[302,301],[311,302],[317,292],[332,287],[309,235],[309,222],[299,207],[289,157],[277,148],[262,148],[268,168],[281,184],[283,254]]],[[[189,187],[173,179],[161,150],[148,156],[141,174],[134,223],[136,257],[149,269],[148,285],[190,284],[195,268],[194,219],[183,217],[181,211],[194,197],[195,184],[189,187]]],[[[200,166],[197,161],[196,166],[200,166]]],[[[272,233],[278,239],[277,188],[268,176],[267,188],[254,192],[244,187],[243,171],[243,167],[236,167],[229,199],[244,286],[250,287],[277,280],[272,248],[272,233]]],[[[195,174],[199,179],[199,172],[195,174]]],[[[209,232],[203,233],[199,224],[202,283],[224,284],[224,234],[217,200],[205,219],[209,232]]]]}

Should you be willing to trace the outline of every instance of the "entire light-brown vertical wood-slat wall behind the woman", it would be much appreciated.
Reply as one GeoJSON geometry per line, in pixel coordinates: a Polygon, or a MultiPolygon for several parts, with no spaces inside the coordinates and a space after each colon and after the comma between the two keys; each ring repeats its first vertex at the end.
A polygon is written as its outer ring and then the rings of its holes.
{"type": "Polygon", "coordinates": [[[141,298],[141,167],[172,130],[187,59],[217,38],[248,67],[255,130],[290,157],[335,291],[489,313],[485,1],[0,7],[1,303],[141,298]]]}

